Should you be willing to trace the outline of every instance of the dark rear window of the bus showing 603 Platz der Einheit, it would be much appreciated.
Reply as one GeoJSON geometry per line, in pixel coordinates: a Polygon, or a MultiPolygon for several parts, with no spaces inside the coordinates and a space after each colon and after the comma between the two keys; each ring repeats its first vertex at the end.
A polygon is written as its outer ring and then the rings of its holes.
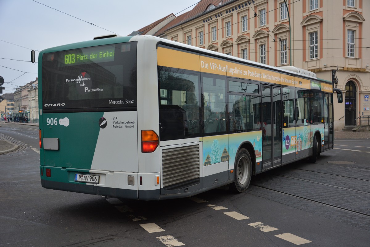
{"type": "Polygon", "coordinates": [[[128,42],[43,54],[43,109],[136,107],[136,48],[128,42]]]}

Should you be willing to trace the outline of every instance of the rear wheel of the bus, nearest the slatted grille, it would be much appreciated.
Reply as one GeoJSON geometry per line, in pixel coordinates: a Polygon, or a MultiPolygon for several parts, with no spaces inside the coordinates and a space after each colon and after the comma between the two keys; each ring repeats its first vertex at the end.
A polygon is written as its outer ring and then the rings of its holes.
{"type": "Polygon", "coordinates": [[[250,183],[252,177],[252,159],[245,148],[241,148],[235,159],[234,183],[231,188],[234,191],[244,192],[250,183]]]}

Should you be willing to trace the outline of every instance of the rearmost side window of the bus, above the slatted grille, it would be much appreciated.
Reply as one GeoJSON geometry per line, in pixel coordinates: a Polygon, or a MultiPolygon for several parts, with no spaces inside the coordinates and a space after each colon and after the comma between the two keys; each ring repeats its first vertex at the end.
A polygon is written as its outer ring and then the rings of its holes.
{"type": "Polygon", "coordinates": [[[161,140],[200,136],[201,100],[199,81],[196,73],[190,73],[182,69],[159,67],[161,140]],[[168,117],[173,119],[167,119],[168,117]]]}

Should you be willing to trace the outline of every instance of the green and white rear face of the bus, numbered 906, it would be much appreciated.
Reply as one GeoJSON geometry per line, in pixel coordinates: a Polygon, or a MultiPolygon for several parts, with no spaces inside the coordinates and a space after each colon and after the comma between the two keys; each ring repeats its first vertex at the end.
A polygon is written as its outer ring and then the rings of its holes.
{"type": "Polygon", "coordinates": [[[138,199],[137,41],[129,40],[40,52],[44,188],[138,199]]]}

